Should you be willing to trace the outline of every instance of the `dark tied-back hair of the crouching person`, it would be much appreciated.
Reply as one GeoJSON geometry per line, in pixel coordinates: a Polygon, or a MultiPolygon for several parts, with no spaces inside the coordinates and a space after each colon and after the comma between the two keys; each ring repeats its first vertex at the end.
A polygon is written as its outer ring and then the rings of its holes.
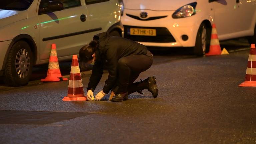
{"type": "Polygon", "coordinates": [[[99,47],[98,40],[92,40],[88,45],[83,46],[79,50],[79,58],[80,62],[87,63],[88,61],[92,60],[92,55],[95,53],[96,49],[99,47]]]}

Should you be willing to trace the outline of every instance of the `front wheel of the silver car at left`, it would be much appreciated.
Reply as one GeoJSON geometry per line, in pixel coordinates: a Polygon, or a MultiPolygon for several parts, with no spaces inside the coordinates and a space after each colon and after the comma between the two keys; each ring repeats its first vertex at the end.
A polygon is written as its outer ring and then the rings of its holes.
{"type": "Polygon", "coordinates": [[[22,40],[17,41],[7,56],[4,82],[10,86],[26,85],[32,73],[33,62],[29,44],[22,40]]]}

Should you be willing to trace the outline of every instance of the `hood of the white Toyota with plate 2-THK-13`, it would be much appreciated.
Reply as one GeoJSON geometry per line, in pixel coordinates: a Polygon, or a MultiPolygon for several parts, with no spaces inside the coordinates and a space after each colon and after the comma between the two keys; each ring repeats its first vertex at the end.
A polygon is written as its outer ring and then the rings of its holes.
{"type": "Polygon", "coordinates": [[[157,11],[177,10],[197,0],[123,0],[125,9],[149,9],[157,11]]]}

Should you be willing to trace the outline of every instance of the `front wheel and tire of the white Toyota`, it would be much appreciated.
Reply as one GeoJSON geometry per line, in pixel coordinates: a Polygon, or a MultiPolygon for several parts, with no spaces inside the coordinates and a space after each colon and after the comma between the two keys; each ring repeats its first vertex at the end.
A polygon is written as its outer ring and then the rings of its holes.
{"type": "Polygon", "coordinates": [[[196,44],[194,47],[194,55],[202,56],[209,51],[211,40],[211,28],[207,28],[205,23],[202,23],[196,35],[196,44]]]}

